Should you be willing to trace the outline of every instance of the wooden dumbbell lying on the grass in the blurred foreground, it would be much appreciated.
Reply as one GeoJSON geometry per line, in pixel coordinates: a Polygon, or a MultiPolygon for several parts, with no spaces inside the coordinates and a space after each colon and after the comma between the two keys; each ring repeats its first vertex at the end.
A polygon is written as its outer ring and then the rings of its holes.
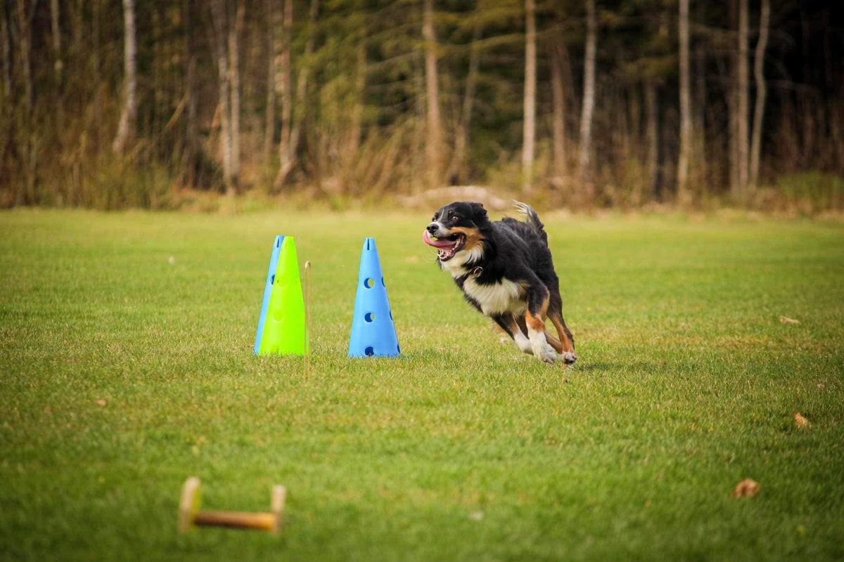
{"type": "Polygon", "coordinates": [[[287,490],[284,486],[273,486],[270,506],[273,511],[199,511],[200,484],[196,476],[185,480],[181,487],[179,501],[179,533],[186,533],[192,526],[231,527],[235,529],[257,529],[276,534],[281,530],[282,511],[287,490]]]}

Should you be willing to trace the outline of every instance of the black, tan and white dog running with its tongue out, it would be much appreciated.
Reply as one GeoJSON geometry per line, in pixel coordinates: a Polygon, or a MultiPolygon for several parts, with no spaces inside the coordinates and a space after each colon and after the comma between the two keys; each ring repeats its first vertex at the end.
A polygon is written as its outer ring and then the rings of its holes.
{"type": "Polygon", "coordinates": [[[559,353],[571,365],[577,355],[563,320],[548,234],[531,206],[516,207],[527,222],[508,217],[492,222],[480,203],[450,203],[436,211],[422,239],[438,250],[437,263],[452,274],[466,300],[520,350],[548,363],[559,353]],[[545,331],[546,317],[559,339],[545,331]]]}

